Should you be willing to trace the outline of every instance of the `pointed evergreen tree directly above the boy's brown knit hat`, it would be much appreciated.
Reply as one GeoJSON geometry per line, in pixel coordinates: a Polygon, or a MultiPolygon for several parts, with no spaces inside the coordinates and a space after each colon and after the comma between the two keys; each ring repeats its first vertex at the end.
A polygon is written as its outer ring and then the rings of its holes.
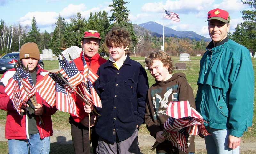
{"type": "Polygon", "coordinates": [[[31,29],[27,33],[27,37],[25,38],[25,42],[35,42],[36,44],[39,44],[40,41],[40,30],[36,26],[36,18],[33,17],[31,21],[31,29]]]}

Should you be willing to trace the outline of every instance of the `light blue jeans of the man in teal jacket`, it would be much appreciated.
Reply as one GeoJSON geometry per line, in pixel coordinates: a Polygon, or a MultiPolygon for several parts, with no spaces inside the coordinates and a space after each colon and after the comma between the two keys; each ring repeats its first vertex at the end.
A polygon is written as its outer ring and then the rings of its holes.
{"type": "Polygon", "coordinates": [[[211,134],[204,136],[207,154],[239,154],[239,146],[233,150],[227,146],[230,129],[205,128],[211,134]]]}

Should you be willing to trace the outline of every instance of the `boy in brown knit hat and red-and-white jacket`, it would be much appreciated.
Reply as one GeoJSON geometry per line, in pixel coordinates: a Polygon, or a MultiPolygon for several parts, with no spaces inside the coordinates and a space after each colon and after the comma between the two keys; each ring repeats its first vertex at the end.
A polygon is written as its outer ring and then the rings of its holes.
{"type": "MultiPolygon", "coordinates": [[[[36,43],[25,43],[20,49],[20,61],[24,67],[28,67],[29,73],[35,85],[42,79],[47,71],[37,65],[40,60],[39,49],[36,43]]],[[[14,109],[11,99],[4,91],[8,80],[15,74],[15,69],[5,72],[0,80],[0,109],[7,111],[5,124],[5,138],[8,139],[8,149],[10,154],[20,153],[44,153],[50,152],[50,136],[52,136],[51,115],[57,110],[47,104],[36,92],[34,113],[31,112],[31,101],[28,100],[26,106],[22,105],[19,113],[14,109]],[[29,112],[28,112],[29,111],[29,112]],[[40,121],[41,116],[44,126],[40,121]]]]}

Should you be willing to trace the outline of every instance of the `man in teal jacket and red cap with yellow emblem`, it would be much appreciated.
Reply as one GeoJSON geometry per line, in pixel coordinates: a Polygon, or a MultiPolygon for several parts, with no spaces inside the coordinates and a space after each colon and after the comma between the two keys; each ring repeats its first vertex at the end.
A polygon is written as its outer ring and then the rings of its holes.
{"type": "Polygon", "coordinates": [[[239,153],[240,139],[252,125],[254,73],[249,50],[228,39],[227,11],[208,12],[212,41],[200,60],[196,110],[211,134],[205,136],[208,154],[239,153]]]}

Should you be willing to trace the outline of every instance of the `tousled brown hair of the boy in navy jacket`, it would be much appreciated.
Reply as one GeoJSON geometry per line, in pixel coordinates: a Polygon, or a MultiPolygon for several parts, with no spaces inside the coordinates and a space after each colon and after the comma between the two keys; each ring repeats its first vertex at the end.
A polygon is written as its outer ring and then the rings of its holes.
{"type": "MultiPolygon", "coordinates": [[[[131,42],[129,32],[118,26],[112,27],[105,37],[105,43],[107,46],[124,46],[127,47],[131,42]]],[[[130,55],[128,49],[125,51],[126,55],[130,55]]]]}

